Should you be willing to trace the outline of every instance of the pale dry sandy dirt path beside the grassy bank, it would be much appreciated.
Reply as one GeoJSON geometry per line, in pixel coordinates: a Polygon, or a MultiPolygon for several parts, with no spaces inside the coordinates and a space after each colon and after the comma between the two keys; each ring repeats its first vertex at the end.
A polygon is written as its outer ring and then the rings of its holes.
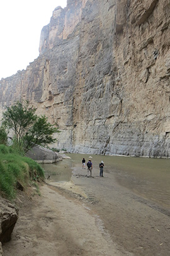
{"type": "Polygon", "coordinates": [[[41,198],[22,208],[4,256],[122,255],[86,205],[53,186],[43,185],[40,192],[41,198]]]}

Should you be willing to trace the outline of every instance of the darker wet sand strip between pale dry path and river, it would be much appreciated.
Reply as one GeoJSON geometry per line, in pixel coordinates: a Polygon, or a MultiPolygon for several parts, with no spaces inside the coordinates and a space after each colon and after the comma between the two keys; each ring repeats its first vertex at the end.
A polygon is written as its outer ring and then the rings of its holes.
{"type": "Polygon", "coordinates": [[[99,214],[113,241],[134,255],[170,254],[169,211],[118,185],[110,173],[100,178],[95,169],[89,180],[81,174],[83,170],[74,170],[74,183],[91,199],[91,209],[99,214]]]}

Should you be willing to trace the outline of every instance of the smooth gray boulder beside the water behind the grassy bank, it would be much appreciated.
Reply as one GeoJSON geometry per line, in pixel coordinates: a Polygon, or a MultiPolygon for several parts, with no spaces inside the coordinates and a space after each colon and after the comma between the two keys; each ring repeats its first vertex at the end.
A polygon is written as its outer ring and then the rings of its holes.
{"type": "Polygon", "coordinates": [[[28,151],[26,156],[37,161],[38,163],[43,164],[52,164],[53,162],[62,160],[62,157],[57,152],[54,152],[50,149],[45,149],[39,145],[28,151]]]}

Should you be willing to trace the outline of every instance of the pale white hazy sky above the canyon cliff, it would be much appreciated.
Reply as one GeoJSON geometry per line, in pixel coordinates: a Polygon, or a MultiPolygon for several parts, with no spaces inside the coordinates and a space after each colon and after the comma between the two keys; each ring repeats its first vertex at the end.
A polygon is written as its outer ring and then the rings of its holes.
{"type": "Polygon", "coordinates": [[[57,6],[67,0],[0,1],[0,79],[26,70],[39,55],[40,34],[57,6]]]}

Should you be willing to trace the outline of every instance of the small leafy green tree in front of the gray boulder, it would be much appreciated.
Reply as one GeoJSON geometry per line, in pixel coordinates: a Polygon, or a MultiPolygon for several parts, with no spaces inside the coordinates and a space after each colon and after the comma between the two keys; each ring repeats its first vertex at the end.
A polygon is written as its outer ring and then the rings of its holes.
{"type": "Polygon", "coordinates": [[[16,102],[3,113],[3,125],[14,131],[13,142],[23,147],[24,152],[35,145],[47,145],[55,142],[52,137],[58,128],[47,122],[45,116],[37,116],[35,108],[29,107],[29,102],[16,102]]]}

